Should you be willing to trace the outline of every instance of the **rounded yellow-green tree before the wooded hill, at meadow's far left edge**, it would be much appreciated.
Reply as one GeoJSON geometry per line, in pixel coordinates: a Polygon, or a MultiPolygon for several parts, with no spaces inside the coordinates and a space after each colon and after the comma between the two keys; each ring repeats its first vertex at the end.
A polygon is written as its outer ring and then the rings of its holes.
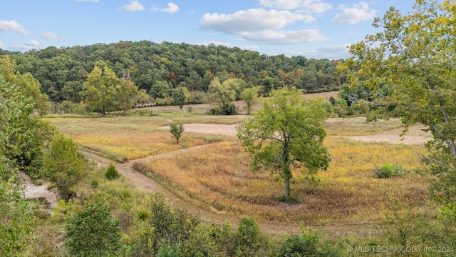
{"type": "Polygon", "coordinates": [[[116,89],[120,80],[115,73],[105,66],[101,69],[95,66],[83,83],[81,96],[87,106],[105,116],[106,111],[115,109],[116,89]]]}

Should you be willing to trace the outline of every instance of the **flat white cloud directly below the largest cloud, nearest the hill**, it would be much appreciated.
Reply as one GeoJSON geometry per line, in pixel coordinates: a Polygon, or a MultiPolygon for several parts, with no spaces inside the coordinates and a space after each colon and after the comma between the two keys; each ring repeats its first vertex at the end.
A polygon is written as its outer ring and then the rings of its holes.
{"type": "Polygon", "coordinates": [[[259,31],[242,34],[244,39],[261,44],[301,44],[327,41],[328,38],[316,29],[301,31],[259,31]]]}

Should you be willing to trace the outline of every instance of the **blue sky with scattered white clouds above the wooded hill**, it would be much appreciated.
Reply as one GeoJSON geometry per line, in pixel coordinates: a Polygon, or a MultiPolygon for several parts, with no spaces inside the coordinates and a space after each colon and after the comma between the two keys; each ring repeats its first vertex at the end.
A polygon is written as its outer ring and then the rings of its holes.
{"type": "Polygon", "coordinates": [[[0,49],[151,40],[222,44],[260,54],[345,59],[375,16],[414,0],[5,0],[0,49]]]}

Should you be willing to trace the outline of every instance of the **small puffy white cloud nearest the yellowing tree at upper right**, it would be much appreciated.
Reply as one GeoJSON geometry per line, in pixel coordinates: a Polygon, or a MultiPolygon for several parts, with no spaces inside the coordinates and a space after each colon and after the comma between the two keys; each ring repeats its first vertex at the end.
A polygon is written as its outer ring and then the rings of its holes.
{"type": "Polygon", "coordinates": [[[360,2],[359,4],[353,5],[352,8],[347,6],[340,6],[342,12],[336,14],[331,20],[333,24],[356,24],[360,21],[368,21],[375,18],[377,11],[369,9],[369,5],[366,2],[360,2]]]}

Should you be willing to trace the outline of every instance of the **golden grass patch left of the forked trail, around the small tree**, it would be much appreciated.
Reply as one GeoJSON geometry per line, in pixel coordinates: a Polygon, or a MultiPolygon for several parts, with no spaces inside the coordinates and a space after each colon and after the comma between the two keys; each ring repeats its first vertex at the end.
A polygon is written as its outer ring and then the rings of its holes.
{"type": "Polygon", "coordinates": [[[184,132],[179,144],[169,131],[157,129],[170,121],[160,117],[108,117],[49,119],[83,149],[114,161],[131,161],[229,139],[227,136],[184,132]]]}

